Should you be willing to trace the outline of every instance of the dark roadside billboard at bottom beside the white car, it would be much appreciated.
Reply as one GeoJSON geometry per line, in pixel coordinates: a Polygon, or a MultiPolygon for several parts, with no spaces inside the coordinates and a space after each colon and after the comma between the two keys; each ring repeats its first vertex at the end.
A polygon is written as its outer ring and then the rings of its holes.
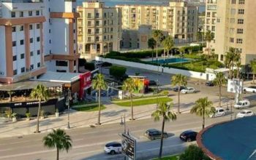
{"type": "Polygon", "coordinates": [[[121,137],[122,153],[128,156],[130,159],[135,159],[136,154],[136,140],[125,133],[121,137]]]}

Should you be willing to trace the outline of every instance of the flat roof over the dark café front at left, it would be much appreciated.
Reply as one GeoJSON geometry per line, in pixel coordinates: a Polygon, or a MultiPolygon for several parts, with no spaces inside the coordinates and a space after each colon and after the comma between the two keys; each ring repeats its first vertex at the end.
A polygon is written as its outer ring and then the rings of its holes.
{"type": "Polygon", "coordinates": [[[63,82],[50,82],[50,81],[19,81],[14,84],[1,84],[0,91],[18,91],[25,89],[34,89],[38,84],[42,84],[45,87],[59,87],[63,85],[63,82]]]}

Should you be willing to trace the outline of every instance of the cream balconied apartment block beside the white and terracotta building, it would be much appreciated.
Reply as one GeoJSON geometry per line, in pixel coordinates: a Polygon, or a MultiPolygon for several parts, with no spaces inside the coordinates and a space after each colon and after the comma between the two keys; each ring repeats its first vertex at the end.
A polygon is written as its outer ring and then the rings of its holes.
{"type": "Polygon", "coordinates": [[[81,58],[94,60],[97,55],[118,51],[121,41],[121,10],[105,7],[99,1],[83,2],[78,7],[78,52],[81,58]]]}

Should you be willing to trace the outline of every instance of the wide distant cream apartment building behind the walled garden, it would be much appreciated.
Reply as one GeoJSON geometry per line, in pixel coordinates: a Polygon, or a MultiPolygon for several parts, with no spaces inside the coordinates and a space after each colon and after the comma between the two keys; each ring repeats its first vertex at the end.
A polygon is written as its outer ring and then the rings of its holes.
{"type": "Polygon", "coordinates": [[[198,8],[185,1],[163,5],[117,5],[122,12],[122,29],[138,30],[140,25],[167,31],[176,43],[196,41],[198,8]]]}

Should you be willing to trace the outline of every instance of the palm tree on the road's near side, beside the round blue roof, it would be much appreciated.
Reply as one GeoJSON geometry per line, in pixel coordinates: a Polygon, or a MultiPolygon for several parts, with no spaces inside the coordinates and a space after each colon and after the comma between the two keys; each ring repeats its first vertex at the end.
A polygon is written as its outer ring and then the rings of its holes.
{"type": "Polygon", "coordinates": [[[190,113],[195,113],[197,116],[203,118],[203,129],[205,127],[206,116],[210,116],[215,113],[215,108],[211,101],[208,101],[208,97],[199,98],[195,101],[195,106],[192,107],[190,113]]]}

